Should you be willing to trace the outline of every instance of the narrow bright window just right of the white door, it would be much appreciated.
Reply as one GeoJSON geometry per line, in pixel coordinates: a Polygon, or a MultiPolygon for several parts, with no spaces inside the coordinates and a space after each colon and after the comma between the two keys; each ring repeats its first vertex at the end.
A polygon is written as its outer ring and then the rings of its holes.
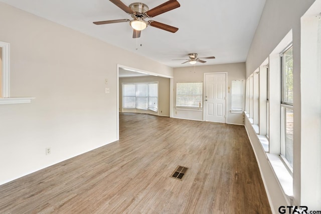
{"type": "Polygon", "coordinates": [[[243,110],[243,80],[234,80],[231,84],[231,109],[234,111],[243,110]]]}

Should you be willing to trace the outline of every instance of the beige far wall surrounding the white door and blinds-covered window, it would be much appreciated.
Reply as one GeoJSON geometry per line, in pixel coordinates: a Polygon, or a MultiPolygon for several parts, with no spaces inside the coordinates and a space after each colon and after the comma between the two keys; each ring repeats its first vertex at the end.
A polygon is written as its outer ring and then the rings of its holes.
{"type": "MultiPolygon", "coordinates": [[[[228,72],[227,87],[231,87],[232,80],[244,80],[245,93],[245,63],[231,63],[210,66],[194,66],[184,68],[174,68],[174,98],[173,98],[173,112],[174,117],[192,120],[203,120],[203,111],[188,111],[176,109],[176,83],[177,82],[203,82],[204,73],[211,72],[228,72]]],[[[228,93],[228,112],[227,123],[243,124],[242,114],[232,114],[231,109],[231,93],[228,93]]],[[[243,97],[243,108],[245,107],[245,96],[243,97]]]]}

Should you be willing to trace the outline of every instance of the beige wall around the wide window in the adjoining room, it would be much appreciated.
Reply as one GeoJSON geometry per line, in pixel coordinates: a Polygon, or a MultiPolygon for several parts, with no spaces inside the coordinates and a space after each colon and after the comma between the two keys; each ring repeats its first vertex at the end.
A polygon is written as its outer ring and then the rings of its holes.
{"type": "Polygon", "coordinates": [[[119,78],[119,112],[139,112],[160,116],[170,116],[170,79],[164,77],[131,77],[119,78]],[[158,82],[158,112],[150,110],[123,110],[122,109],[122,83],[158,82]]]}

